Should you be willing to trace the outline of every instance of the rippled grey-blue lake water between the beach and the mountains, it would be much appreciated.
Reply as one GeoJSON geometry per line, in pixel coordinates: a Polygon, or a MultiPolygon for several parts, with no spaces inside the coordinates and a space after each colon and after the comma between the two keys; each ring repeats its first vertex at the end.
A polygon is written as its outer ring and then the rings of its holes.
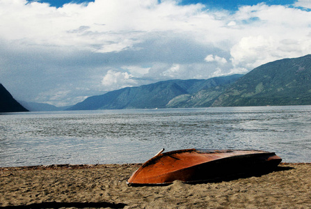
{"type": "Polygon", "coordinates": [[[145,162],[161,148],[268,150],[311,162],[311,106],[0,114],[0,167],[145,162]]]}

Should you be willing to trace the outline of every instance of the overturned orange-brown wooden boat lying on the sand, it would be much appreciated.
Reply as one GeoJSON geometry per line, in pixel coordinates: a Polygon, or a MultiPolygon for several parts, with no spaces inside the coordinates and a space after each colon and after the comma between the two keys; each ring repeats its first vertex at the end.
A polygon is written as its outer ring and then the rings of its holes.
{"type": "Polygon", "coordinates": [[[162,153],[145,162],[127,180],[131,186],[215,180],[273,169],[282,159],[262,150],[186,149],[162,153]]]}

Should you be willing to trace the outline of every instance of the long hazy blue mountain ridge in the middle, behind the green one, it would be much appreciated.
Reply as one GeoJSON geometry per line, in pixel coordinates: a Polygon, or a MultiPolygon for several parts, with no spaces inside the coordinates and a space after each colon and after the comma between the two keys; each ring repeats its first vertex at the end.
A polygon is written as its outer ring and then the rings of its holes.
{"type": "Polygon", "coordinates": [[[208,90],[214,86],[230,84],[242,75],[214,77],[211,79],[169,80],[138,87],[127,87],[92,96],[68,110],[83,109],[144,109],[165,108],[178,95],[208,90]]]}

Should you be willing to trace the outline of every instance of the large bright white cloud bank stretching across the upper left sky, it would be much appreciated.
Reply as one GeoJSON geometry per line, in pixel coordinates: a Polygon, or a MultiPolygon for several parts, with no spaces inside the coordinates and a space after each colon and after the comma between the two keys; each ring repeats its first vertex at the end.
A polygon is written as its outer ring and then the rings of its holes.
{"type": "Polygon", "coordinates": [[[144,33],[150,31],[193,28],[191,22],[196,24],[193,19],[201,8],[177,6],[174,1],[97,0],[87,6],[67,3],[56,9],[47,3],[2,0],[0,23],[4,30],[0,37],[35,45],[120,52],[143,41],[144,33]]]}

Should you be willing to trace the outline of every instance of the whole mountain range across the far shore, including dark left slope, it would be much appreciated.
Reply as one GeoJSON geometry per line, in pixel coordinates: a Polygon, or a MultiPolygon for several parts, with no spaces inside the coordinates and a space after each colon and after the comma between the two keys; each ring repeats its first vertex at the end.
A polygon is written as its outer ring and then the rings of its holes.
{"type": "MultiPolygon", "coordinates": [[[[260,65],[246,75],[168,80],[86,98],[66,110],[154,109],[311,104],[311,54],[260,65]]],[[[0,84],[0,112],[66,107],[17,102],[0,84]],[[24,107],[22,107],[21,103],[24,107]]]]}

